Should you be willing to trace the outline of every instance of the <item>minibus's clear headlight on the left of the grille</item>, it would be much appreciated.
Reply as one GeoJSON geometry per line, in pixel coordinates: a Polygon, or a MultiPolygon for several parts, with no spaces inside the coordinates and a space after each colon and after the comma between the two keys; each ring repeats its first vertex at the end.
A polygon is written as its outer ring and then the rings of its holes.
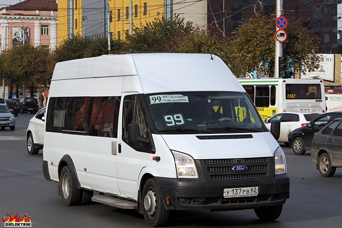
{"type": "Polygon", "coordinates": [[[176,164],[177,177],[179,178],[198,178],[195,160],[186,155],[171,150],[176,164]]]}

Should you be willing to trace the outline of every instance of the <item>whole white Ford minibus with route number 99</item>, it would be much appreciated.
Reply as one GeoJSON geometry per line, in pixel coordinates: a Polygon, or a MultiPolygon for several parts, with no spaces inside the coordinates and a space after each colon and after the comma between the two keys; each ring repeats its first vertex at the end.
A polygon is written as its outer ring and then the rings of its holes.
{"type": "Polygon", "coordinates": [[[248,94],[210,54],[126,53],[57,63],[43,173],[65,205],[100,202],[166,225],[171,210],[280,216],[285,155],[248,94]],[[236,107],[250,115],[239,121],[236,107]]]}

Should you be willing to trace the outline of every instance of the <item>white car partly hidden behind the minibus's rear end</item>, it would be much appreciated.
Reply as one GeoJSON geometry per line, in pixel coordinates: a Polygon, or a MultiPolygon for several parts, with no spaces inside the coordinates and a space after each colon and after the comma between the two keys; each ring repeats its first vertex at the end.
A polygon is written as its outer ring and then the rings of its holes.
{"type": "Polygon", "coordinates": [[[43,148],[44,126],[46,108],[40,109],[37,114],[30,119],[26,130],[27,152],[36,155],[43,148]]]}

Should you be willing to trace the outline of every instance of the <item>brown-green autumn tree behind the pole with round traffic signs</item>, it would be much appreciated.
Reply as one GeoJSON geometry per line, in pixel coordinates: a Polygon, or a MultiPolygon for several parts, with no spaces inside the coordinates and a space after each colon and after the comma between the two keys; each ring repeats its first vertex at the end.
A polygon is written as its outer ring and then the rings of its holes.
{"type": "MultiPolygon", "coordinates": [[[[229,67],[238,76],[247,75],[254,70],[274,75],[275,58],[275,15],[255,15],[233,31],[231,48],[234,53],[229,59],[229,67]]],[[[288,37],[283,56],[292,59],[294,69],[317,69],[319,59],[315,55],[318,47],[300,19],[287,17],[288,37]]]]}

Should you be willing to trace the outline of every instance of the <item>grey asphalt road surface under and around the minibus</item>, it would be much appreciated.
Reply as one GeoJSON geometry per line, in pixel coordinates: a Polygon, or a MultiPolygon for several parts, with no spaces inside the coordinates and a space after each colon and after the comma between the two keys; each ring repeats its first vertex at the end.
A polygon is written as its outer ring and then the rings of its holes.
{"type": "MultiPolygon", "coordinates": [[[[42,151],[29,155],[25,133],[33,114],[16,117],[16,129],[0,130],[0,217],[27,213],[32,227],[148,227],[135,210],[94,203],[65,206],[57,196],[57,184],[44,179],[42,151]]],[[[282,145],[290,176],[290,199],[280,217],[262,222],[253,210],[173,212],[169,227],[340,227],[342,221],[342,169],[333,177],[322,177],[310,152],[299,156],[282,145]]],[[[22,217],[21,217],[22,218],[22,217]]],[[[0,226],[2,221],[0,221],[0,226]]]]}

